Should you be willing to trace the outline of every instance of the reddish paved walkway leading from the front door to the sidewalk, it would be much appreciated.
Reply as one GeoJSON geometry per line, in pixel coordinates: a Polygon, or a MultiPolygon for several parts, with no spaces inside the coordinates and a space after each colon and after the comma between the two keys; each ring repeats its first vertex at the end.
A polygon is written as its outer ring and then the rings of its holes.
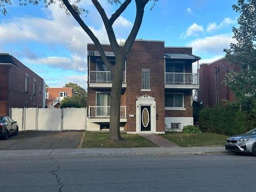
{"type": "Polygon", "coordinates": [[[157,134],[139,134],[141,137],[144,137],[153,143],[155,143],[157,146],[160,147],[179,147],[179,145],[175,144],[172,141],[169,141],[168,139],[165,139],[164,137],[157,135],[157,134]]]}

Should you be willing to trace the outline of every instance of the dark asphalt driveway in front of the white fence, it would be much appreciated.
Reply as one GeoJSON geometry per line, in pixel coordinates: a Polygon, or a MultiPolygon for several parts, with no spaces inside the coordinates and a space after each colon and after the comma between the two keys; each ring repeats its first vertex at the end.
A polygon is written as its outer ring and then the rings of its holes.
{"type": "Polygon", "coordinates": [[[19,132],[8,140],[0,140],[0,150],[77,148],[83,133],[84,131],[19,132]]]}

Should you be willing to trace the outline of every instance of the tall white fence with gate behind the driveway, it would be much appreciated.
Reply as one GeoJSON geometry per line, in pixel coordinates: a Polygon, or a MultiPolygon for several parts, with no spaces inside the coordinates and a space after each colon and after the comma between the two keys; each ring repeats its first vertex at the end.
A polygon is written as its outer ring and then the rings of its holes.
{"type": "Polygon", "coordinates": [[[86,130],[87,109],[12,108],[10,116],[19,131],[75,131],[86,130]]]}

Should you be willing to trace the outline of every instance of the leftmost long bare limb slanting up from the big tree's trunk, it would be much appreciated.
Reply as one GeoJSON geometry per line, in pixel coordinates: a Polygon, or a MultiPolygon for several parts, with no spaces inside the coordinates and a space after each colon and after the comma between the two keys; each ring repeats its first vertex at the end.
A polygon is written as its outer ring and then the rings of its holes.
{"type": "Polygon", "coordinates": [[[113,65],[111,65],[109,59],[106,57],[104,50],[102,49],[102,46],[99,42],[99,39],[93,34],[91,29],[83,22],[79,14],[75,11],[75,9],[72,7],[72,5],[69,3],[69,0],[62,0],[63,4],[67,7],[69,12],[72,14],[72,16],[76,19],[77,23],[81,26],[81,28],[89,35],[89,37],[93,40],[96,48],[99,51],[99,54],[105,63],[105,65],[108,67],[109,70],[112,71],[113,65]]]}

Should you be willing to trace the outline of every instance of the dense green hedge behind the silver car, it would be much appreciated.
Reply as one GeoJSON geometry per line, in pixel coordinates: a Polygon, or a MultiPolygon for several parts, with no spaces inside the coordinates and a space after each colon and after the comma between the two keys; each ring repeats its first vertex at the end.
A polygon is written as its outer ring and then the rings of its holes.
{"type": "Polygon", "coordinates": [[[224,135],[245,133],[255,125],[249,115],[234,106],[216,106],[205,108],[199,112],[200,129],[205,132],[224,135]]]}

